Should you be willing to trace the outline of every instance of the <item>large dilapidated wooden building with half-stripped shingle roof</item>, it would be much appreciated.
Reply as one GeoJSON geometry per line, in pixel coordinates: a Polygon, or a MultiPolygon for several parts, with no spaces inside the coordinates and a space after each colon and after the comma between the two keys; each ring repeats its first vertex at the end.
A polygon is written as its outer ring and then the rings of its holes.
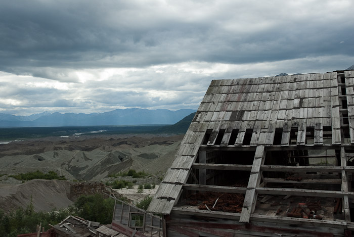
{"type": "Polygon", "coordinates": [[[348,236],[354,71],[213,80],[148,211],[165,236],[348,236]]]}

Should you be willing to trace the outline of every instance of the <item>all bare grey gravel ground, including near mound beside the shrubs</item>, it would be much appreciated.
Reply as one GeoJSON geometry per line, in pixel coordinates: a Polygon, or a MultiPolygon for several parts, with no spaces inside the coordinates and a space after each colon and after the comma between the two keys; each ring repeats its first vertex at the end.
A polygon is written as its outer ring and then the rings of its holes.
{"type": "MultiPolygon", "coordinates": [[[[149,134],[85,135],[46,137],[15,141],[0,145],[0,205],[4,211],[26,207],[30,198],[36,211],[64,208],[73,203],[77,183],[103,184],[113,179],[134,181],[131,189],[119,189],[132,201],[142,199],[154,190],[137,192],[139,184],[154,183],[155,189],[172,162],[183,135],[163,136],[149,134]],[[148,173],[144,178],[108,177],[109,174],[129,169],[148,173]],[[56,171],[68,181],[23,181],[11,174],[33,171],[56,171]],[[73,182],[80,180],[81,182],[73,182]]],[[[155,190],[156,191],[156,190],[155,190]]]]}

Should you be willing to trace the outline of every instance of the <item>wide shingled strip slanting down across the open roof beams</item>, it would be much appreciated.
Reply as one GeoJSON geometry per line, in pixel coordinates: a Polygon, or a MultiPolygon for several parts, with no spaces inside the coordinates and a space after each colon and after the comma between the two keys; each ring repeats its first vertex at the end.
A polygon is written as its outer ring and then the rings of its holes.
{"type": "Polygon", "coordinates": [[[260,166],[264,163],[264,155],[264,146],[258,146],[254,155],[251,175],[248,180],[247,191],[245,201],[242,207],[240,222],[248,223],[251,213],[254,211],[257,201],[256,187],[259,186],[261,177],[260,166]]]}

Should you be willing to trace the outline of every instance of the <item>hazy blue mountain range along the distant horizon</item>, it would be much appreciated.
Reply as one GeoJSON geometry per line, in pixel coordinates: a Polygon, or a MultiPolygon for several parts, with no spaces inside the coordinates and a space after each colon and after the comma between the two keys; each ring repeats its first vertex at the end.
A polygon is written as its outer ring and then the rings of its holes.
{"type": "Polygon", "coordinates": [[[117,109],[104,113],[49,113],[17,116],[0,113],[0,127],[63,127],[174,124],[196,110],[117,109]]]}

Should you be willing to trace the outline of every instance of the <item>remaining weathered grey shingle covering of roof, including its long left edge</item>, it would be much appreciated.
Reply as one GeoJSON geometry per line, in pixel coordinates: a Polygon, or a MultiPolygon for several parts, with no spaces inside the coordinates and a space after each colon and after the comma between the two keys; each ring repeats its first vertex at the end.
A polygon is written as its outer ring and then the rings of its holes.
{"type": "MultiPolygon", "coordinates": [[[[305,145],[306,129],[314,130],[314,145],[323,144],[323,130],[340,145],[342,98],[346,98],[351,144],[354,144],[354,71],[213,80],[168,169],[148,211],[169,214],[178,201],[199,147],[273,146],[276,129],[281,146],[289,146],[290,131],[297,129],[296,145],[305,145]],[[230,144],[233,130],[235,142],[230,144]],[[222,131],[222,132],[221,132],[222,131]],[[209,137],[205,140],[205,134],[209,137]],[[215,144],[217,142],[217,144],[215,144]]],[[[343,121],[342,121],[343,123],[343,121]]]]}

